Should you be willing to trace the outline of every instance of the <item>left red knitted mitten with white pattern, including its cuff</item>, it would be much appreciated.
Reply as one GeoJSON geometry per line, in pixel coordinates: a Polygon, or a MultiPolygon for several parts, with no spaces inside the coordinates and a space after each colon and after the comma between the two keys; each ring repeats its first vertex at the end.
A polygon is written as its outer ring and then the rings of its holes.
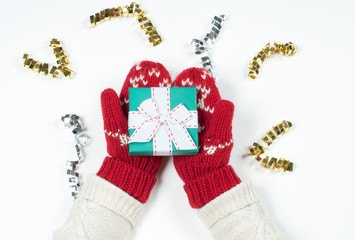
{"type": "Polygon", "coordinates": [[[128,154],[128,88],[167,87],[171,84],[168,71],[160,63],[143,61],[131,69],[118,98],[113,89],[101,94],[107,142],[106,157],[97,175],[145,203],[156,182],[162,157],[131,157],[128,154]]]}

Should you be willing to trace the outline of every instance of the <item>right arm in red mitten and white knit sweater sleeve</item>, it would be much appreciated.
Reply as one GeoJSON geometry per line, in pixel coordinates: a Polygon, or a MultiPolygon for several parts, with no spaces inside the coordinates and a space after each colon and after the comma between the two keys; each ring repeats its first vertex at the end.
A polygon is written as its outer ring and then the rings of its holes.
{"type": "Polygon", "coordinates": [[[218,240],[280,240],[251,185],[241,182],[229,165],[233,147],[233,103],[222,100],[210,72],[190,68],[176,87],[197,88],[199,153],[174,156],[191,207],[218,240]]]}

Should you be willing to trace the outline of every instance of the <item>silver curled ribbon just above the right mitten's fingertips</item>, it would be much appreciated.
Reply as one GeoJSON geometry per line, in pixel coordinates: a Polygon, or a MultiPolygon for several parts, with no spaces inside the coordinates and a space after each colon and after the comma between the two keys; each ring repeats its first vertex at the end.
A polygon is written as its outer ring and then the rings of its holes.
{"type": "MultiPolygon", "coordinates": [[[[225,20],[225,15],[214,16],[211,26],[203,40],[192,39],[191,44],[195,47],[195,54],[201,56],[202,66],[212,73],[212,61],[209,50],[215,43],[221,29],[222,22],[225,20]]],[[[213,73],[212,73],[213,74],[213,73]]]]}

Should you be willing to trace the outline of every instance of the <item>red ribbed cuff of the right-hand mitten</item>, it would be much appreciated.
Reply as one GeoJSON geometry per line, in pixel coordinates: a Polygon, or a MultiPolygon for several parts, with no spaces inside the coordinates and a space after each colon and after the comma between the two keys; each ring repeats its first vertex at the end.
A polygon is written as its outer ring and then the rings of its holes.
{"type": "Polygon", "coordinates": [[[184,189],[191,207],[201,208],[240,182],[232,166],[227,165],[210,175],[186,183],[184,189]]]}

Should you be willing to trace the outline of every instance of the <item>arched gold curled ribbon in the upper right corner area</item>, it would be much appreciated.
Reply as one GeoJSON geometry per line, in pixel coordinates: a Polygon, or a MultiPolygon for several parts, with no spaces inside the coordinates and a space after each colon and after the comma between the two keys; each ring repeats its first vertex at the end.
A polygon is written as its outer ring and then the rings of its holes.
{"type": "Polygon", "coordinates": [[[268,59],[273,54],[283,54],[287,56],[292,56],[297,52],[297,47],[292,43],[288,42],[285,44],[279,42],[268,42],[265,47],[256,55],[249,64],[248,76],[252,79],[256,79],[259,75],[260,67],[263,65],[264,61],[268,59]]]}

